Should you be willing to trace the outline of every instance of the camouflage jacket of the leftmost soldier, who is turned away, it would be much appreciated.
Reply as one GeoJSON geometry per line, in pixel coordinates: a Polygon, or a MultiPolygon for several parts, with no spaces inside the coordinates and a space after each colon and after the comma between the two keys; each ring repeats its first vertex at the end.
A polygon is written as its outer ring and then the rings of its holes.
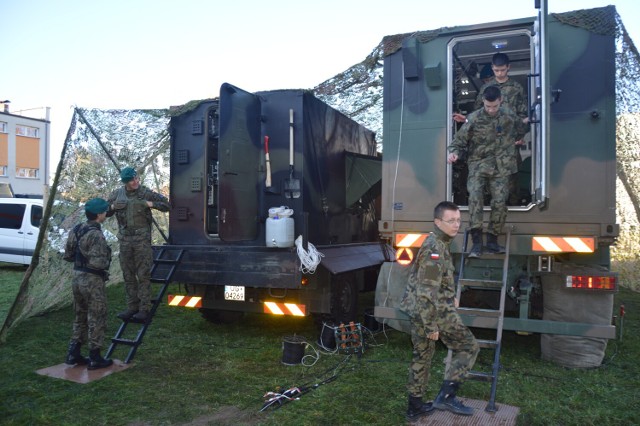
{"type": "Polygon", "coordinates": [[[77,232],[69,232],[65,252],[73,251],[77,253],[75,256],[74,269],[84,272],[102,272],[109,270],[109,266],[111,265],[111,248],[107,244],[107,240],[102,234],[102,227],[98,222],[89,220],[81,224],[77,232]],[[79,241],[76,241],[77,236],[80,236],[79,241]],[[80,261],[78,258],[82,260],[80,261]],[[79,262],[81,264],[79,264],[79,262]]]}

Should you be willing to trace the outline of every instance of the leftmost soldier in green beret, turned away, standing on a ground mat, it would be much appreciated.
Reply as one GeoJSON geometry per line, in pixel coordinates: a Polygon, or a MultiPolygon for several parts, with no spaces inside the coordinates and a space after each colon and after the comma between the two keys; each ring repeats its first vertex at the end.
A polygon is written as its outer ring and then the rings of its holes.
{"type": "Polygon", "coordinates": [[[100,355],[107,328],[107,297],[105,282],[111,265],[111,249],[102,234],[100,224],[107,217],[109,204],[93,198],[84,206],[87,222],[69,233],[65,246],[65,260],[73,262],[73,302],[75,320],[69,342],[66,364],[89,364],[89,370],[113,364],[100,355]],[[89,359],[80,353],[82,343],[89,343],[89,359]]]}

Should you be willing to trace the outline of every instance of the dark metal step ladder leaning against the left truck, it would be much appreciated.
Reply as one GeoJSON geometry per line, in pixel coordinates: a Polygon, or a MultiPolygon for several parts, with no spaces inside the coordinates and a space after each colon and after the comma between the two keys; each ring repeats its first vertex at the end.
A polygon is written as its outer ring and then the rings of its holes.
{"type": "Polygon", "coordinates": [[[138,347],[142,344],[142,338],[151,325],[151,320],[153,319],[158,306],[160,306],[160,303],[162,303],[162,298],[164,297],[164,294],[166,293],[167,288],[171,283],[173,274],[176,271],[183,254],[184,250],[182,249],[166,249],[160,246],[157,255],[153,259],[153,266],[151,267],[151,283],[162,285],[160,286],[160,290],[158,291],[156,297],[151,301],[152,303],[151,309],[149,310],[149,315],[144,321],[135,318],[122,320],[122,324],[120,324],[120,328],[118,328],[116,335],[111,339],[111,344],[109,345],[109,349],[106,352],[105,358],[111,358],[118,345],[123,345],[129,347],[129,353],[125,358],[124,363],[128,364],[131,362],[138,350],[138,347]],[[130,324],[140,325],[137,332],[134,331],[133,334],[135,334],[135,337],[133,339],[124,337],[130,324]]]}

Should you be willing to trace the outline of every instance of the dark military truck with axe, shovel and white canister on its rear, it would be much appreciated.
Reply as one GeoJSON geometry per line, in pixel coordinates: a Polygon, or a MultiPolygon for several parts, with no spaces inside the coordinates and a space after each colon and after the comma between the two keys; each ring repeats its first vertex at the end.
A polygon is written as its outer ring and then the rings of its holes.
{"type": "Polygon", "coordinates": [[[170,305],[211,321],[354,320],[392,258],[376,229],[375,135],[309,91],[228,83],[175,111],[170,132],[169,240],[155,248],[183,251],[170,305]]]}

